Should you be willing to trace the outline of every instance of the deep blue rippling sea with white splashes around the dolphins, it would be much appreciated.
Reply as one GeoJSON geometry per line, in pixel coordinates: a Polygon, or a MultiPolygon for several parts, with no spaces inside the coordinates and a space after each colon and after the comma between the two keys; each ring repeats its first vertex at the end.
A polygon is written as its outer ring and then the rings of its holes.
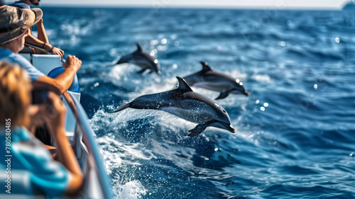
{"type": "MultiPolygon", "coordinates": [[[[115,198],[355,198],[355,12],[43,8],[53,45],[82,59],[81,103],[115,198]],[[121,56],[143,50],[161,76],[121,56]],[[250,96],[219,100],[236,133],[127,108],[208,62],[250,96]]],[[[209,98],[219,93],[192,89],[209,98]]]]}

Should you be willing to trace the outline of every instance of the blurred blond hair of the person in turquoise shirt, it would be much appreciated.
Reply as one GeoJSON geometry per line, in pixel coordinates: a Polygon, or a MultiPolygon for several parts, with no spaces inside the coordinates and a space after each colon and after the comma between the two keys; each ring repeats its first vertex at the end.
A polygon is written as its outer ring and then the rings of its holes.
{"type": "Polygon", "coordinates": [[[11,127],[28,126],[31,82],[25,70],[0,62],[0,127],[11,120],[11,127]]]}

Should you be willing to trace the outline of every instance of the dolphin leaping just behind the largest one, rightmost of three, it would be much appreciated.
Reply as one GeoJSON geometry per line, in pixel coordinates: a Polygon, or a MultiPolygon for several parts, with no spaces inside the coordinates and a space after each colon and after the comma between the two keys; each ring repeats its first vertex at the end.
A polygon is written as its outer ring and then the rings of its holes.
{"type": "Polygon", "coordinates": [[[249,93],[244,89],[243,83],[239,79],[215,72],[212,67],[208,66],[207,62],[200,63],[202,64],[200,72],[184,77],[187,84],[220,92],[219,96],[215,98],[216,100],[226,98],[230,93],[249,96],[249,93]]]}

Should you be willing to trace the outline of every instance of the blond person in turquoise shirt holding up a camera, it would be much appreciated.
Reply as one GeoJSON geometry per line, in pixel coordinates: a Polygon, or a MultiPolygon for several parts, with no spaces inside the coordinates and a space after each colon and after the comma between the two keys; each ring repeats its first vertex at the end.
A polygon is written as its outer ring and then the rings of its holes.
{"type": "MultiPolygon", "coordinates": [[[[82,188],[83,175],[65,137],[65,106],[52,92],[48,93],[48,103],[31,105],[31,87],[24,69],[0,62],[0,156],[11,154],[11,174],[26,170],[32,187],[46,195],[77,195],[82,188]],[[53,160],[43,144],[27,130],[36,122],[33,120],[36,115],[41,115],[48,123],[58,161],[53,160]]],[[[6,161],[0,161],[0,169],[6,166],[6,161]]]]}

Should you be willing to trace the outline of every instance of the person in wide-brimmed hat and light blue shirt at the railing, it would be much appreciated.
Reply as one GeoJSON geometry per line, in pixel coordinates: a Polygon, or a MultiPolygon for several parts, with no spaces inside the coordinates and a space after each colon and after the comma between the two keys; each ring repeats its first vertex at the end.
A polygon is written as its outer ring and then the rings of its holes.
{"type": "Polygon", "coordinates": [[[80,59],[68,55],[63,64],[64,72],[53,79],[39,72],[27,59],[18,55],[24,47],[28,29],[40,21],[42,15],[40,8],[21,9],[13,6],[0,6],[0,60],[5,59],[26,69],[35,88],[43,87],[61,94],[72,84],[82,64],[80,59]]]}

